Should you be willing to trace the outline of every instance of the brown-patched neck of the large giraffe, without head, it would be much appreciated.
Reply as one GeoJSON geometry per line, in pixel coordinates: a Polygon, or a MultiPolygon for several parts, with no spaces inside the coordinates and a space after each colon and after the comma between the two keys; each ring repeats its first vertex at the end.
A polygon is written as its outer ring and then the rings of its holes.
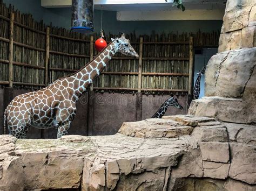
{"type": "Polygon", "coordinates": [[[73,82],[73,90],[77,98],[95,81],[116,52],[114,42],[112,42],[89,62],[88,65],[80,69],[77,73],[69,76],[68,81],[73,82]]]}

